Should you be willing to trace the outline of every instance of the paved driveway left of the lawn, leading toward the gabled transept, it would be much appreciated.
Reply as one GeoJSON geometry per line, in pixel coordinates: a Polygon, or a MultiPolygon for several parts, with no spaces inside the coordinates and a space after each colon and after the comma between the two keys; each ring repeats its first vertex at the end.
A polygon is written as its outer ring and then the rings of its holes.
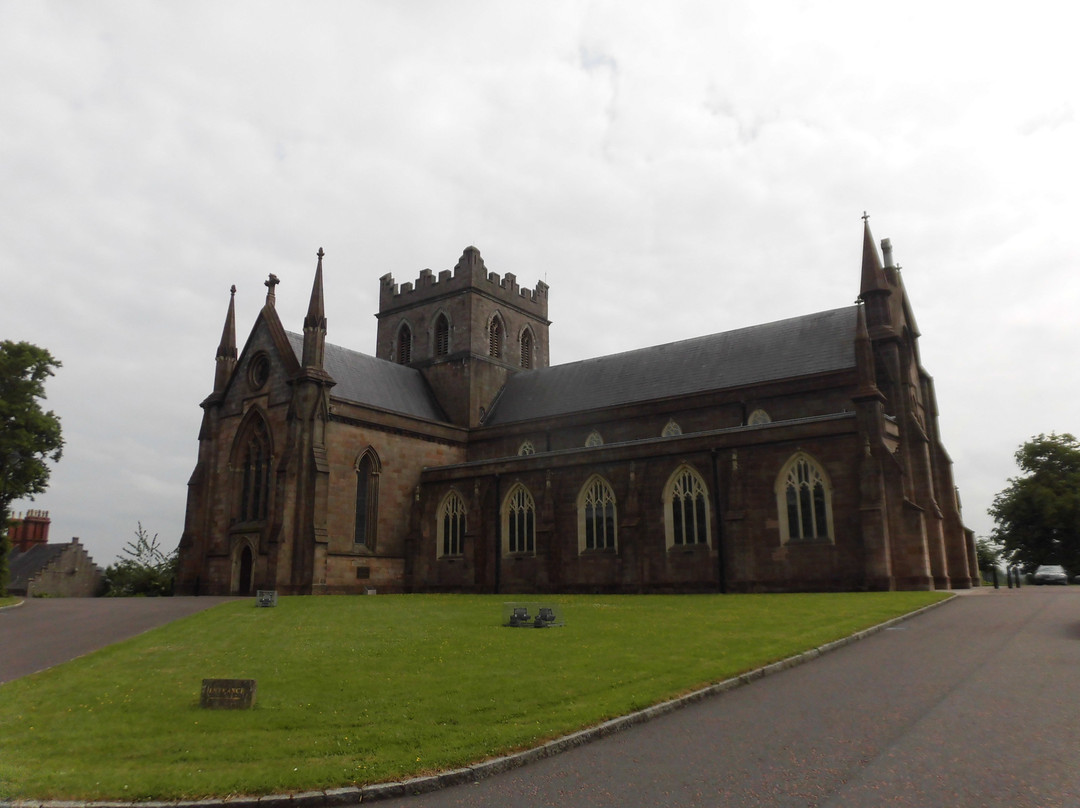
{"type": "Polygon", "coordinates": [[[32,597],[0,609],[0,683],[52,668],[229,597],[32,597]]]}

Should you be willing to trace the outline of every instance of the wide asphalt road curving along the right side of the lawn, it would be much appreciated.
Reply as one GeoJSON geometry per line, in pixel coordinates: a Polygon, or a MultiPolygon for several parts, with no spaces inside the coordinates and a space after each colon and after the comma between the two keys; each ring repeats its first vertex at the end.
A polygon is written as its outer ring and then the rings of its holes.
{"type": "Polygon", "coordinates": [[[380,805],[1080,806],[1080,587],[962,595],[597,743],[380,805]]]}

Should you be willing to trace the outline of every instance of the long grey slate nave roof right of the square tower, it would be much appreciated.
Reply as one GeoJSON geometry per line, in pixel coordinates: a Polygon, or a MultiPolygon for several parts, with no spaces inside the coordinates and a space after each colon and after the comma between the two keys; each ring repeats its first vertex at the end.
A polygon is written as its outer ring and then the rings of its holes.
{"type": "Polygon", "coordinates": [[[485,423],[513,423],[842,371],[855,365],[858,309],[684,339],[518,373],[485,423]]]}

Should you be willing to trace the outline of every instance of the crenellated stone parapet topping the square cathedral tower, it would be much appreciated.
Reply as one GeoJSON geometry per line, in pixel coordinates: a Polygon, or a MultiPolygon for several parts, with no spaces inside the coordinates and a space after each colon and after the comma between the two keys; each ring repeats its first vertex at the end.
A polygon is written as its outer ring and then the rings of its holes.
{"type": "Polygon", "coordinates": [[[523,288],[517,275],[488,272],[476,247],[465,247],[454,270],[444,269],[436,277],[430,269],[420,271],[416,283],[394,282],[390,273],[379,279],[379,315],[429,304],[464,291],[478,292],[499,302],[513,306],[532,317],[548,319],[548,284],[538,281],[535,288],[523,288]]]}

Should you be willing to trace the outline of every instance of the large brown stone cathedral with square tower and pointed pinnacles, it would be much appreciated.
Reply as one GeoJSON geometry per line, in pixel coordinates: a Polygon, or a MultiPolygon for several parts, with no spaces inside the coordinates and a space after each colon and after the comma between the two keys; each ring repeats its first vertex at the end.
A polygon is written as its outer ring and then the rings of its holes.
{"type": "MultiPolygon", "coordinates": [[[[854,281],[854,272],[852,272],[854,281]]],[[[551,365],[548,286],[380,281],[375,355],[278,279],[202,402],[185,594],[781,592],[977,582],[888,240],[859,301],[551,365]]],[[[233,295],[235,287],[233,287],[233,295]]]]}

